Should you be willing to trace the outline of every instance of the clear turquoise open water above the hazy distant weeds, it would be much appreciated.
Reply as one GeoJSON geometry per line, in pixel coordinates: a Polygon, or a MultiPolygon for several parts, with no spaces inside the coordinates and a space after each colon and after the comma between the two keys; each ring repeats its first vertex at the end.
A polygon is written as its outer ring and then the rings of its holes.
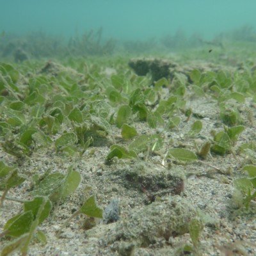
{"type": "Polygon", "coordinates": [[[106,38],[147,40],[183,31],[211,39],[256,25],[255,0],[0,0],[0,31],[70,37],[102,27],[106,38]]]}

